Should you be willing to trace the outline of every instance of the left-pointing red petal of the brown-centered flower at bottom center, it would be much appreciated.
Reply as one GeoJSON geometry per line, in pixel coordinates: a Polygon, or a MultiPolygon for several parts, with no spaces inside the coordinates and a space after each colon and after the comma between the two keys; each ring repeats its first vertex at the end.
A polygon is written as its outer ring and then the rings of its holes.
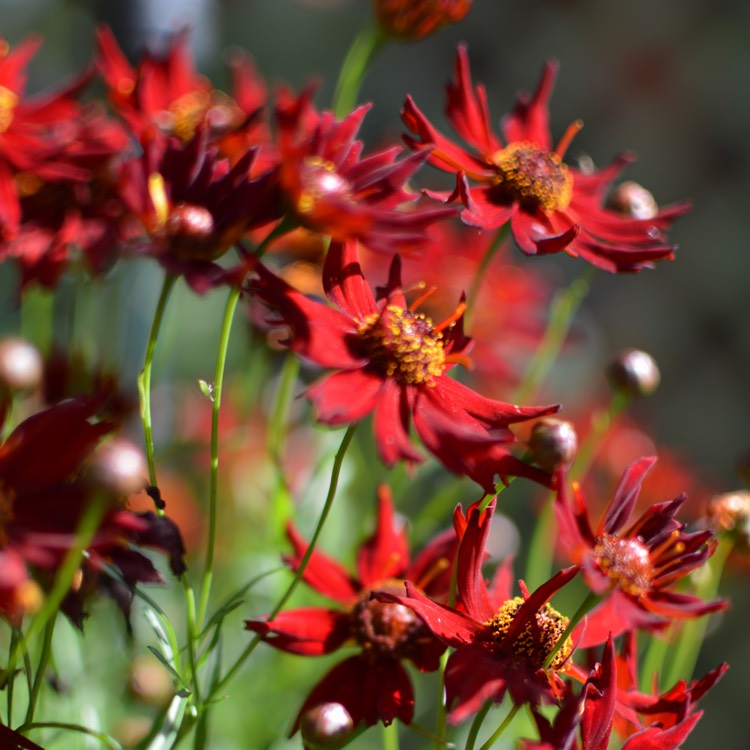
{"type": "Polygon", "coordinates": [[[281,612],[273,620],[245,620],[245,628],[290,654],[320,656],[341,648],[351,637],[347,612],[305,607],[281,612]]]}

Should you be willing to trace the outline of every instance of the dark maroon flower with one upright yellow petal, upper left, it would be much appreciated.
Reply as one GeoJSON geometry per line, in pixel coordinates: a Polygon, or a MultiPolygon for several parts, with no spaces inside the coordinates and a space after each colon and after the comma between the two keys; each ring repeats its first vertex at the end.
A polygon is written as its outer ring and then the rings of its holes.
{"type": "Polygon", "coordinates": [[[276,175],[250,177],[254,158],[250,150],[232,165],[205,130],[187,144],[145,136],[141,157],[122,170],[123,201],[148,235],[136,247],[197,292],[231,278],[213,261],[281,211],[276,175]]]}

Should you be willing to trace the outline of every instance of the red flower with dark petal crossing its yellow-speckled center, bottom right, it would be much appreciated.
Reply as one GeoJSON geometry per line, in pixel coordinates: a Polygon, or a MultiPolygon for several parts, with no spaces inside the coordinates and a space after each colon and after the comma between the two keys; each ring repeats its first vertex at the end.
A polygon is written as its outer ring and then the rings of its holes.
{"type": "Polygon", "coordinates": [[[549,600],[577,569],[560,571],[533,593],[521,583],[522,596],[513,596],[510,566],[504,564],[488,589],[481,567],[494,501],[481,512],[478,506],[469,507],[466,519],[459,507],[454,519],[459,535],[463,529],[456,562],[461,611],[433,601],[408,582],[406,596],[378,595],[411,607],[437,638],[456,649],[445,670],[448,718],[455,723],[486,701],[499,703],[506,692],[516,704],[537,705],[561,697],[565,686],[558,672],[573,651],[566,639],[551,665],[544,667],[569,623],[549,600]]]}

